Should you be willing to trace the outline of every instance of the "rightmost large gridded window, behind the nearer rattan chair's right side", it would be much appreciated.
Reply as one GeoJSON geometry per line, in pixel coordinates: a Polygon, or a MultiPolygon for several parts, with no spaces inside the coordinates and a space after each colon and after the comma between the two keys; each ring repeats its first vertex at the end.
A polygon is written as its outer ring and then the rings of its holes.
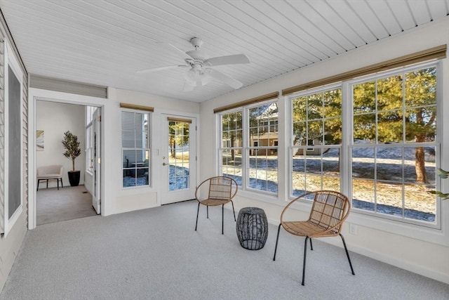
{"type": "Polygon", "coordinates": [[[358,81],[352,93],[354,208],[433,223],[436,66],[358,81]]]}

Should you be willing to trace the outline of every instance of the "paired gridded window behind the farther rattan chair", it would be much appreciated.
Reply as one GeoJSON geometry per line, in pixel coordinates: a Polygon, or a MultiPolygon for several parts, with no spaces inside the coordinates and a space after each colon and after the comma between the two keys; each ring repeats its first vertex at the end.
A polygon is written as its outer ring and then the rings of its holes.
{"type": "Polygon", "coordinates": [[[220,169],[246,190],[278,192],[277,102],[220,114],[220,169]],[[242,169],[242,166],[246,166],[242,169]]]}

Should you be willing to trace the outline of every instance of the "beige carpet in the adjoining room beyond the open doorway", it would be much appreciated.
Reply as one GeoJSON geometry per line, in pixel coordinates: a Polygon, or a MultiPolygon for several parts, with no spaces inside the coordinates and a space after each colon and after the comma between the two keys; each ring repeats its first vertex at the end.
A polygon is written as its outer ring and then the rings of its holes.
{"type": "Polygon", "coordinates": [[[42,225],[96,216],[92,196],[84,185],[64,188],[39,188],[36,197],[36,223],[42,225]]]}

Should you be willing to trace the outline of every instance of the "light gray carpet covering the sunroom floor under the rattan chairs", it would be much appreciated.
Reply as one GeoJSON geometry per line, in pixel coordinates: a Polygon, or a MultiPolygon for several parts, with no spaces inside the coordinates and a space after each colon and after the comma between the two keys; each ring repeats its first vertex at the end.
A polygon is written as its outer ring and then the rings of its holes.
{"type": "MultiPolygon", "coordinates": [[[[232,211],[196,202],[106,217],[49,223],[30,230],[1,300],[13,299],[448,299],[449,285],[318,239],[307,255],[304,240],[276,226],[263,249],[243,249],[232,211]]],[[[349,246],[350,250],[350,246],[349,246]]]]}

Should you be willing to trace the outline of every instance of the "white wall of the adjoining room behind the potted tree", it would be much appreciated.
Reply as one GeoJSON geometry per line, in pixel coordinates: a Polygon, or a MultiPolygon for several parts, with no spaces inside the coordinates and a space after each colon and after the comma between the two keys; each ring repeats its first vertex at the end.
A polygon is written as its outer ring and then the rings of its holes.
{"type": "MultiPolygon", "coordinates": [[[[65,148],[62,145],[65,131],[69,130],[80,141],[81,155],[75,159],[75,170],[81,171],[80,184],[84,183],[84,169],[86,169],[86,117],[83,105],[67,103],[55,103],[39,100],[36,104],[36,130],[44,131],[43,151],[36,151],[36,167],[50,164],[62,164],[64,173],[62,182],[69,186],[67,171],[72,171],[72,159],[68,159],[62,153],[65,148]]],[[[36,132],[36,131],[34,131],[36,132]]],[[[56,181],[50,181],[48,188],[57,186],[56,181]]],[[[46,183],[41,181],[39,189],[46,188],[46,183]]]]}

